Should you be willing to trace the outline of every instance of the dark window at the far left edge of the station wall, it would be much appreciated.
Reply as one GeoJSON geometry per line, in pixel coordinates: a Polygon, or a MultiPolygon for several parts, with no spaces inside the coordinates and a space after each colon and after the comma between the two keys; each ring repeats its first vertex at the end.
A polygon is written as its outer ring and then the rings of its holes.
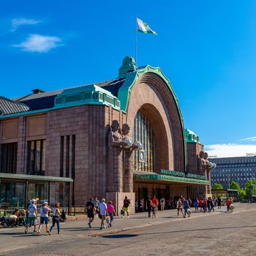
{"type": "Polygon", "coordinates": [[[1,173],[16,173],[18,143],[1,144],[1,173]]]}

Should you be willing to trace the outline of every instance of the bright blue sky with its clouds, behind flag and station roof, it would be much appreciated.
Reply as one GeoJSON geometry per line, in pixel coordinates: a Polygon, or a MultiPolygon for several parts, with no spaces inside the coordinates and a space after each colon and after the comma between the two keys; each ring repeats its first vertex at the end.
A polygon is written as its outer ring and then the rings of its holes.
{"type": "Polygon", "coordinates": [[[211,155],[256,152],[256,1],[1,1],[4,97],[116,78],[135,56],[161,67],[185,127],[211,155]],[[247,139],[247,140],[244,140],[247,139]]]}

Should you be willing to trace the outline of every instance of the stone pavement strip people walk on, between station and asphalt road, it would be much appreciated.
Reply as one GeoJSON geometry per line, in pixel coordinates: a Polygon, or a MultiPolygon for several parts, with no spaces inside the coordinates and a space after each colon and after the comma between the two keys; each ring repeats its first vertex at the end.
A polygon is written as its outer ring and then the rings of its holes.
{"type": "MultiPolygon", "coordinates": [[[[236,203],[235,211],[233,214],[238,214],[246,211],[255,211],[255,204],[240,204],[236,203]]],[[[24,233],[23,227],[18,228],[1,228],[0,229],[0,255],[7,255],[9,252],[16,252],[17,249],[26,249],[31,246],[42,246],[43,244],[48,243],[59,243],[59,242],[70,242],[74,238],[86,238],[86,237],[97,237],[97,236],[106,236],[113,233],[121,233],[126,230],[140,230],[149,228],[155,225],[171,225],[172,222],[188,222],[190,219],[200,218],[211,219],[211,216],[217,216],[218,214],[230,214],[226,213],[226,207],[223,207],[222,210],[216,209],[215,212],[211,213],[192,213],[190,218],[184,219],[176,216],[176,210],[168,211],[158,211],[157,219],[148,219],[147,213],[135,214],[129,217],[129,219],[121,219],[116,217],[113,222],[113,227],[106,228],[105,230],[99,230],[100,220],[97,218],[93,223],[93,228],[89,228],[87,225],[87,220],[76,221],[76,222],[66,222],[61,223],[61,235],[57,235],[57,231],[53,230],[53,234],[48,236],[44,233],[45,227],[42,227],[42,234],[37,235],[32,233],[32,228],[30,229],[29,234],[24,233]]],[[[231,216],[231,214],[230,214],[231,216]]],[[[177,223],[178,225],[178,223],[177,223]]],[[[132,231],[133,232],[133,231],[132,231]]]]}

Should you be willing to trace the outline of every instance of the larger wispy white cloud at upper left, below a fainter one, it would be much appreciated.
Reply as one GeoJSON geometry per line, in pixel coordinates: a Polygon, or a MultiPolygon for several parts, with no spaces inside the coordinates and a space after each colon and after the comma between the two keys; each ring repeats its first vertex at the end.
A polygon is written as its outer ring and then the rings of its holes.
{"type": "Polygon", "coordinates": [[[61,44],[61,39],[59,37],[30,34],[24,42],[21,42],[19,45],[12,46],[22,48],[22,50],[30,52],[47,53],[49,50],[61,45],[63,44],[61,44]]]}

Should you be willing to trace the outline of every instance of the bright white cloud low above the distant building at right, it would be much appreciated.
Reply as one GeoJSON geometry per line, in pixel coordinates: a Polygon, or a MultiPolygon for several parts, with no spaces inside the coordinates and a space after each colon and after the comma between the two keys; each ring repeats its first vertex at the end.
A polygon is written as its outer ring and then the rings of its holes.
{"type": "Polygon", "coordinates": [[[256,145],[247,144],[214,144],[205,146],[209,156],[217,157],[245,157],[246,153],[256,153],[256,145]]]}

